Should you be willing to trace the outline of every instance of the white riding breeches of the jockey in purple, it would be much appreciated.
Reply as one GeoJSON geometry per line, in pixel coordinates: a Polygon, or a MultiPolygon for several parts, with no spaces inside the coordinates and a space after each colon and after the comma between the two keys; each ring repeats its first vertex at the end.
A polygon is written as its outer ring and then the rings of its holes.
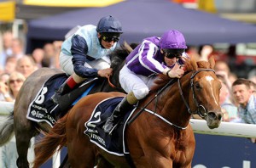
{"type": "Polygon", "coordinates": [[[146,83],[150,79],[147,76],[137,75],[127,68],[126,65],[119,72],[119,82],[125,92],[133,92],[139,100],[148,95],[149,89],[146,83]]]}

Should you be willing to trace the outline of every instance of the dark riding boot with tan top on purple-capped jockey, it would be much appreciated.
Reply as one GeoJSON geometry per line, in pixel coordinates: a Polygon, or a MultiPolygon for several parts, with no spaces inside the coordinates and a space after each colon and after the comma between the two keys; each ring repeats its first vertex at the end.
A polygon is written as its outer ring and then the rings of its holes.
{"type": "Polygon", "coordinates": [[[119,118],[129,110],[133,108],[133,104],[137,103],[137,98],[135,98],[133,92],[130,92],[123,100],[116,106],[113,110],[112,115],[108,117],[105,125],[102,127],[104,132],[109,133],[113,129],[113,126],[117,124],[119,118]]]}

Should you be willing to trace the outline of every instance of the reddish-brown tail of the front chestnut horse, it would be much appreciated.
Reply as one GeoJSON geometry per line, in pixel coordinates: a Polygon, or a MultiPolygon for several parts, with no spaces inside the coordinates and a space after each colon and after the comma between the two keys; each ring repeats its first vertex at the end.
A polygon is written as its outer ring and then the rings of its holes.
{"type": "Polygon", "coordinates": [[[40,167],[40,165],[43,165],[44,162],[49,160],[57,150],[61,150],[61,148],[66,145],[67,117],[68,114],[58,120],[49,133],[44,132],[45,137],[36,143],[34,149],[36,157],[33,162],[33,167],[40,167]]]}

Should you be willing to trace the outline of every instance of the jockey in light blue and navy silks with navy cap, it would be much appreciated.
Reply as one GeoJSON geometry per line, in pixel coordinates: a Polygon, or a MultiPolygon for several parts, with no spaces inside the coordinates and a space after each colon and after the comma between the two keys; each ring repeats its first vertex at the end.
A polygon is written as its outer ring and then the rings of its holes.
{"type": "Polygon", "coordinates": [[[112,75],[108,53],[113,51],[123,33],[122,25],[113,16],[103,17],[95,25],[84,25],[61,46],[61,69],[69,75],[52,96],[55,104],[61,95],[71,92],[86,78],[112,75]]]}

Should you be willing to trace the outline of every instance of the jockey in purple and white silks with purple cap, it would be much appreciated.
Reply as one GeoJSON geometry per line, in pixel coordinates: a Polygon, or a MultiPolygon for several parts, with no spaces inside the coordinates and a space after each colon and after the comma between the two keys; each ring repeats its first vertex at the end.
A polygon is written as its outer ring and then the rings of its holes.
{"type": "Polygon", "coordinates": [[[145,38],[126,58],[125,65],[120,70],[119,82],[128,92],[127,96],[114,109],[113,114],[103,126],[104,132],[109,133],[133,104],[148,95],[146,83],[152,74],[164,74],[170,78],[180,78],[184,70],[183,57],[189,58],[185,52],[186,42],[179,31],[166,31],[161,38],[152,36],[145,38]],[[177,65],[179,64],[179,65],[177,65]]]}

